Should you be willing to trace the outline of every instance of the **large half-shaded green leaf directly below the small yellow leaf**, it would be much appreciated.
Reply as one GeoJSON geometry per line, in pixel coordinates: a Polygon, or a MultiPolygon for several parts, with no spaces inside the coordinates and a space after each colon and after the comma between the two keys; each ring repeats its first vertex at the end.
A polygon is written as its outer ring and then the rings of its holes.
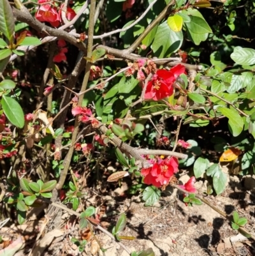
{"type": "Polygon", "coordinates": [[[174,32],[167,22],[157,27],[157,33],[152,43],[152,50],[156,57],[168,57],[171,53],[180,49],[183,41],[182,31],[174,32]]]}

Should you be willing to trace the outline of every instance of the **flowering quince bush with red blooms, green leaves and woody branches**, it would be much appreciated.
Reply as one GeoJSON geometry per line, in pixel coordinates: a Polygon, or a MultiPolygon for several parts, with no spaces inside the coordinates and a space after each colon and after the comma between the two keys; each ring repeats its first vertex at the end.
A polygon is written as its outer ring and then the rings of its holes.
{"type": "MultiPolygon", "coordinates": [[[[67,3],[0,0],[0,202],[18,223],[59,199],[81,230],[109,235],[85,200],[94,187],[129,179],[145,206],[172,187],[193,206],[208,204],[196,181],[210,197],[228,186],[224,168],[254,174],[252,1],[67,3]]],[[[131,256],[155,255],[122,245],[126,222],[110,236],[131,256]]]]}

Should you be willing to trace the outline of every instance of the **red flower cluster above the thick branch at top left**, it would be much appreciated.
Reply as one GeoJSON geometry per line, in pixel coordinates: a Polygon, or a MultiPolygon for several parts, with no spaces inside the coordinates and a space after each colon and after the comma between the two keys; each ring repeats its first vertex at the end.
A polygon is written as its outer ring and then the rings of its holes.
{"type": "MultiPolygon", "coordinates": [[[[52,4],[43,4],[47,3],[48,0],[38,0],[38,3],[41,4],[40,8],[36,12],[36,19],[41,22],[50,22],[50,25],[53,27],[58,27],[61,24],[61,15],[63,4],[61,4],[59,11],[57,7],[52,4]]],[[[75,17],[76,13],[71,8],[66,8],[66,19],[72,20],[75,17]]]]}

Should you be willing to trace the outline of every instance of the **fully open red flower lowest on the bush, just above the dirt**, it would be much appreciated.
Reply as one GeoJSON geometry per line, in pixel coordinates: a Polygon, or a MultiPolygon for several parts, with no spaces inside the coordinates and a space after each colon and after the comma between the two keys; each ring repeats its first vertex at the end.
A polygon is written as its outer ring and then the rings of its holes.
{"type": "Polygon", "coordinates": [[[157,186],[167,186],[171,177],[178,171],[178,160],[175,157],[161,160],[158,158],[154,165],[147,169],[142,169],[141,174],[145,176],[143,182],[157,186]]]}

